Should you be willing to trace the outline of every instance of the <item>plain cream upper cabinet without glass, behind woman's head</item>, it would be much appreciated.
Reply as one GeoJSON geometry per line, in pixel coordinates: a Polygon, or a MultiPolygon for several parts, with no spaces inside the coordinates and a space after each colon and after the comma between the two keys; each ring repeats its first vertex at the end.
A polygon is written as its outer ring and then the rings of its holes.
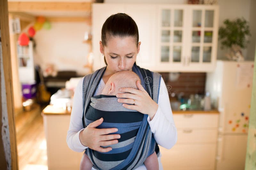
{"type": "Polygon", "coordinates": [[[152,68],[156,53],[156,5],[151,4],[93,4],[92,5],[92,45],[93,70],[105,66],[104,56],[100,54],[101,28],[112,14],[126,13],[133,18],[139,30],[140,52],[136,63],[140,67],[152,68]]]}

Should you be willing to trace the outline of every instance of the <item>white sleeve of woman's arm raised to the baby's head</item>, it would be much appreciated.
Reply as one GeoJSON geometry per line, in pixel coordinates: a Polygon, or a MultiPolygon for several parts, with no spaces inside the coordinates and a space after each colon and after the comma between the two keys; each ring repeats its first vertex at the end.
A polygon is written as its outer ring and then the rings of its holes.
{"type": "Polygon", "coordinates": [[[154,118],[150,120],[148,116],[148,124],[157,144],[171,149],[177,141],[177,129],[173,121],[168,91],[162,77],[157,104],[158,109],[154,118]]]}

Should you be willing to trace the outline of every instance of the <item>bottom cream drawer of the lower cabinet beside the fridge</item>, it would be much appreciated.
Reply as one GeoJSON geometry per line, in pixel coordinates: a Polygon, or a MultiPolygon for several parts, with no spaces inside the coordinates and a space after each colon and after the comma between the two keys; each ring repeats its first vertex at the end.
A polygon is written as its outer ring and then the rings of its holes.
{"type": "Polygon", "coordinates": [[[161,146],[161,162],[164,169],[172,170],[213,170],[215,144],[176,144],[170,150],[161,146]]]}

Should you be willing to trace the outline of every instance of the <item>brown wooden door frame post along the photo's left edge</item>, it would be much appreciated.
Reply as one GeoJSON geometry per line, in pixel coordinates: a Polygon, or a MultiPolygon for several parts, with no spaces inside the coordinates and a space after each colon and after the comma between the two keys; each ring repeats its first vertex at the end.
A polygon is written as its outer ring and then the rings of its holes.
{"type": "MultiPolygon", "coordinates": [[[[3,70],[4,70],[4,81],[5,81],[5,94],[7,106],[7,116],[9,124],[9,141],[7,143],[10,146],[10,150],[4,152],[4,154],[11,154],[11,160],[6,160],[5,156],[0,155],[0,161],[7,163],[11,162],[11,169],[18,169],[18,154],[17,154],[17,142],[16,142],[16,131],[15,131],[15,120],[14,120],[14,105],[13,105],[13,90],[12,90],[12,65],[11,65],[11,49],[10,49],[10,34],[9,34],[9,18],[8,18],[8,2],[7,0],[0,0],[0,29],[1,29],[1,41],[2,41],[2,54],[3,54],[3,70]],[[5,160],[4,160],[5,159],[5,160]]],[[[1,67],[1,66],[0,66],[1,67]]],[[[0,72],[1,73],[1,72],[0,72]]],[[[0,82],[2,78],[0,79],[0,82]]],[[[1,84],[0,84],[1,87],[1,84]]],[[[1,94],[3,95],[3,94],[1,94]]],[[[2,104],[0,103],[0,118],[2,119],[2,104]]],[[[8,130],[8,127],[0,127],[0,133],[2,137],[2,128],[8,130]]],[[[7,132],[8,133],[8,132],[7,132]]],[[[1,140],[2,141],[2,140],[1,140]]],[[[6,142],[6,141],[5,141],[6,142]]],[[[0,143],[1,144],[1,143],[0,143]]],[[[3,144],[2,144],[3,146],[3,144]]],[[[5,148],[8,149],[8,148],[5,148]]],[[[8,157],[8,156],[7,156],[8,157]]],[[[9,169],[9,168],[7,168],[9,169]]]]}

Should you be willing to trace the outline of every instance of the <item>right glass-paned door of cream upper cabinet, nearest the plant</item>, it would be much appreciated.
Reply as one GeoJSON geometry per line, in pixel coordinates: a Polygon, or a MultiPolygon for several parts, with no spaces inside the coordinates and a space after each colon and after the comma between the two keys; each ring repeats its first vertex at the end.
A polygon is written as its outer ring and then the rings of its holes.
{"type": "Polygon", "coordinates": [[[213,10],[192,10],[191,63],[211,62],[213,19],[213,10]]]}

